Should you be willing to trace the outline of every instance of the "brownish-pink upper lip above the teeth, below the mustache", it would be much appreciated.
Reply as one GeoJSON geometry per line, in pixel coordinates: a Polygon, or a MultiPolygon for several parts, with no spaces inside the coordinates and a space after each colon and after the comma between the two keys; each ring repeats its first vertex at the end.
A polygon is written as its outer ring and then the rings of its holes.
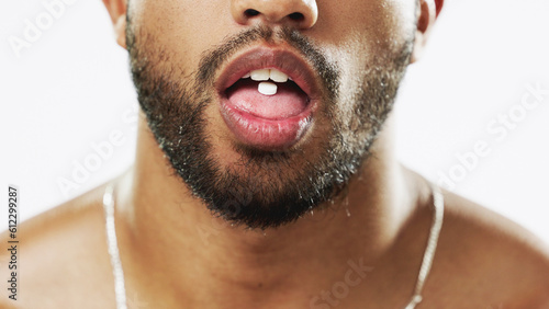
{"type": "Polygon", "coordinates": [[[283,48],[256,47],[242,53],[222,69],[215,81],[215,89],[221,95],[227,88],[246,73],[258,69],[277,69],[288,75],[310,99],[318,94],[315,73],[311,66],[293,52],[283,48]]]}

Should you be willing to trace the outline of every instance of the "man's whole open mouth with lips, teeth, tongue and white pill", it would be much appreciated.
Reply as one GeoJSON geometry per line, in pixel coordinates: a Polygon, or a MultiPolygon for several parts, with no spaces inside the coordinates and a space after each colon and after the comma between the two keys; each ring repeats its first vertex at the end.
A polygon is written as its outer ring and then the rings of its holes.
{"type": "Polygon", "coordinates": [[[317,87],[312,70],[292,53],[248,52],[225,68],[216,88],[225,124],[242,144],[281,150],[311,127],[317,87]]]}

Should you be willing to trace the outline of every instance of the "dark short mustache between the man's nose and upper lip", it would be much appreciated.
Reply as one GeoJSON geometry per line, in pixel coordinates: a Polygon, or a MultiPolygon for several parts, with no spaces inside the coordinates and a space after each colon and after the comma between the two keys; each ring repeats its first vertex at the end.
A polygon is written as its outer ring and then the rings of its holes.
{"type": "Polygon", "coordinates": [[[258,43],[273,46],[287,44],[293,47],[313,67],[328,96],[335,99],[339,87],[337,65],[328,60],[314,41],[289,26],[273,30],[266,25],[257,25],[225,38],[216,47],[203,53],[195,75],[198,84],[213,85],[216,72],[225,62],[237,52],[258,43]]]}

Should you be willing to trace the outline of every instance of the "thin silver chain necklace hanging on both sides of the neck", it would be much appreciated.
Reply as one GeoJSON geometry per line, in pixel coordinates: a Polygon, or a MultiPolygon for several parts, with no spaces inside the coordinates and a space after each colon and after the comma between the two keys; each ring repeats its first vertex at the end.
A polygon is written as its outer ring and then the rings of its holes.
{"type": "MultiPolygon", "coordinates": [[[[405,309],[414,309],[419,302],[422,302],[423,286],[425,284],[425,281],[427,279],[427,276],[429,275],[433,259],[435,258],[438,236],[440,234],[440,229],[442,227],[445,207],[442,193],[440,192],[440,188],[435,185],[433,186],[433,199],[435,209],[433,224],[429,231],[429,239],[427,241],[427,247],[425,248],[425,253],[423,255],[422,267],[419,268],[419,274],[417,276],[414,295],[412,296],[412,299],[410,300],[405,309]]],[[[114,275],[114,295],[116,297],[116,309],[127,309],[124,272],[122,270],[122,262],[120,261],[116,230],[114,227],[114,196],[112,185],[108,185],[105,193],[103,194],[103,209],[107,219],[107,243],[109,247],[109,255],[111,256],[112,272],[114,275]]]]}

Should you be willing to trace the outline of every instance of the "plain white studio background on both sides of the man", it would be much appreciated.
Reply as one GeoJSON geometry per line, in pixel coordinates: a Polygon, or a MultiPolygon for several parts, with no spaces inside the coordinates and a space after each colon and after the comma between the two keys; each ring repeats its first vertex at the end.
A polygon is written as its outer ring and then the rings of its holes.
{"type": "MultiPolygon", "coordinates": [[[[399,157],[549,242],[549,1],[446,2],[399,94],[399,157]]],[[[20,187],[20,220],[132,164],[137,103],[99,0],[0,1],[0,185],[20,187]],[[30,24],[43,28],[26,39],[30,24]]]]}

